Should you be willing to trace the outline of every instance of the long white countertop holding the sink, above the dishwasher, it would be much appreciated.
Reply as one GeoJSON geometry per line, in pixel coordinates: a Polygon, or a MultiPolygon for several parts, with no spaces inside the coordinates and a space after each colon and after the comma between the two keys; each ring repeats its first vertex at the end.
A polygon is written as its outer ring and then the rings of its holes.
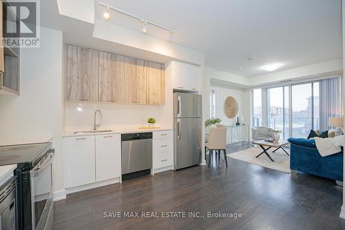
{"type": "Polygon", "coordinates": [[[115,134],[115,133],[146,133],[146,132],[154,132],[154,131],[167,131],[172,130],[172,128],[98,128],[98,130],[112,130],[111,132],[103,132],[103,133],[77,133],[76,131],[67,131],[62,135],[62,137],[77,137],[77,136],[87,136],[87,135],[106,135],[106,134],[115,134]]]}

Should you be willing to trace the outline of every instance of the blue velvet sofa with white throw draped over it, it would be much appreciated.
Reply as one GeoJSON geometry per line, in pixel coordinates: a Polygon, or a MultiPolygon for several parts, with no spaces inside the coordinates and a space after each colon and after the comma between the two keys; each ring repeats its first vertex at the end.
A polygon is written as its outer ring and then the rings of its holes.
{"type": "Polygon", "coordinates": [[[289,138],[290,169],[301,171],[339,182],[343,181],[343,151],[322,157],[317,151],[315,140],[289,138]]]}

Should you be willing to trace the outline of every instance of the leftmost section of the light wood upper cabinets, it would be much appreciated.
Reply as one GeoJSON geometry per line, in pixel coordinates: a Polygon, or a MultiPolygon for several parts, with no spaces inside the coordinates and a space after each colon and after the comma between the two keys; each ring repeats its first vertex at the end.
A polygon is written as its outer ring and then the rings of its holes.
{"type": "Polygon", "coordinates": [[[98,51],[68,45],[65,99],[98,102],[98,51]]]}

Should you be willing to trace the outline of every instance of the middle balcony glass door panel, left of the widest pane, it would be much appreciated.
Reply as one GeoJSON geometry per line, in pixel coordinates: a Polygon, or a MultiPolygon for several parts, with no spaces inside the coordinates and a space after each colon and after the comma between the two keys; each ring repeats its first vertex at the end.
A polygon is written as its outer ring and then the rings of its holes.
{"type": "Polygon", "coordinates": [[[282,137],[289,137],[288,86],[267,89],[268,127],[282,131],[282,137]]]}

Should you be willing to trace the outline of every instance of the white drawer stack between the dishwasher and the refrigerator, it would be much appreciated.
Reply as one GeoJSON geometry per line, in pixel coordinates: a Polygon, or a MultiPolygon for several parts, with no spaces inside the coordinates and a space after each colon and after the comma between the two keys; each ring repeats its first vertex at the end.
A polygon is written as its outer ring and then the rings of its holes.
{"type": "Polygon", "coordinates": [[[152,165],[155,173],[172,169],[173,145],[172,131],[153,132],[152,165]]]}

